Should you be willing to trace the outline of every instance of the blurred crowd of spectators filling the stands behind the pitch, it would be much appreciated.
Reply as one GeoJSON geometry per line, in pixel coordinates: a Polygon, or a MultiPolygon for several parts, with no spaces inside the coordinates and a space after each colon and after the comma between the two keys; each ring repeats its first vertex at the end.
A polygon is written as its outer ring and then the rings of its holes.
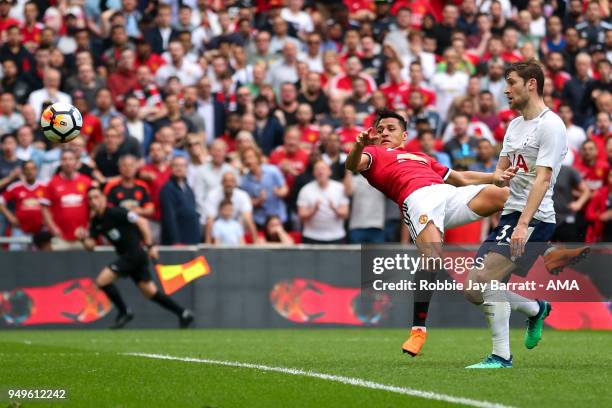
{"type": "Polygon", "coordinates": [[[393,109],[407,149],[491,172],[528,59],[568,129],[556,239],[611,242],[607,0],[0,0],[0,235],[78,246],[93,183],[165,245],[403,242],[355,137],[393,109]],[[64,145],[55,102],[83,115],[64,145]]]}

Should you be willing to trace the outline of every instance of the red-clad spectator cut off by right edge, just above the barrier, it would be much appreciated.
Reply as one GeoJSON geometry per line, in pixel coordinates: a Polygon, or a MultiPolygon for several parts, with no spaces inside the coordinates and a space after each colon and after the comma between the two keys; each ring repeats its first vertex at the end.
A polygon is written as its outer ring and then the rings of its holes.
{"type": "Polygon", "coordinates": [[[612,240],[612,172],[608,184],[595,192],[587,205],[585,218],[589,221],[586,242],[612,240]]]}

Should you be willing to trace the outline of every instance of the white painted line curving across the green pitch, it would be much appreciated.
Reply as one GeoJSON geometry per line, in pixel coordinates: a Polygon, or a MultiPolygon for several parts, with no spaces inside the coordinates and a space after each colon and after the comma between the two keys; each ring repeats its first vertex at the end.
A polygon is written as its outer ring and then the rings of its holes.
{"type": "Polygon", "coordinates": [[[201,363],[201,364],[212,364],[226,367],[237,367],[237,368],[250,368],[260,371],[271,371],[289,375],[300,375],[304,377],[318,378],[321,380],[334,381],[342,384],[355,385],[357,387],[370,388],[373,390],[383,390],[388,392],[394,392],[396,394],[410,395],[412,397],[425,398],[429,400],[450,402],[453,404],[467,405],[470,407],[478,408],[511,408],[508,405],[498,404],[489,401],[479,401],[470,398],[454,397],[447,394],[439,394],[431,391],[421,391],[414,388],[397,387],[394,385],[381,384],[373,381],[363,380],[361,378],[344,377],[340,375],[318,373],[316,371],[306,371],[298,368],[286,368],[286,367],[274,367],[262,364],[251,364],[241,363],[239,361],[224,361],[224,360],[210,360],[207,358],[193,358],[193,357],[175,357],[165,354],[150,354],[150,353],[122,353],[127,356],[145,357],[157,360],[172,360],[172,361],[183,361],[188,363],[201,363]]]}

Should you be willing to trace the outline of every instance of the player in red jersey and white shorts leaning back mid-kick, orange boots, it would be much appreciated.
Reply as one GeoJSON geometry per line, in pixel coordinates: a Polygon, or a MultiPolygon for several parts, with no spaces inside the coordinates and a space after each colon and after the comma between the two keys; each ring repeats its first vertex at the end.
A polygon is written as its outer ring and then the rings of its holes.
{"type": "MultiPolygon", "coordinates": [[[[492,173],[455,171],[420,152],[403,148],[405,119],[391,111],[379,113],[372,128],[362,132],[346,159],[346,168],[359,171],[368,182],[401,208],[412,240],[426,258],[442,256],[445,228],[464,225],[500,211],[508,189],[492,185],[492,173]]],[[[508,182],[516,168],[508,168],[502,179],[508,182]]],[[[580,251],[554,249],[545,257],[547,268],[573,262],[580,251]]],[[[436,262],[434,262],[435,264],[436,262]]],[[[435,279],[437,270],[416,272],[415,281],[435,279]]],[[[413,327],[402,350],[417,355],[427,336],[425,321],[431,291],[414,295],[413,327]]]]}

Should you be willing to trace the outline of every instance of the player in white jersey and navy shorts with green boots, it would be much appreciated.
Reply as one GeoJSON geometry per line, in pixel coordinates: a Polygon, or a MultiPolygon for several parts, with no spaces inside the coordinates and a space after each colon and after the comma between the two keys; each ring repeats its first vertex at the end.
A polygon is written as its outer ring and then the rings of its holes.
{"type": "Polygon", "coordinates": [[[482,269],[468,275],[465,295],[480,305],[492,332],[493,352],[482,362],[467,368],[510,368],[509,321],[511,310],[528,316],[525,346],[535,347],[542,337],[544,319],[550,304],[530,300],[510,291],[474,289],[491,281],[502,282],[511,273],[524,274],[542,255],[555,231],[553,187],[567,153],[567,133],[559,116],[542,99],[544,73],[535,61],[519,62],[506,70],[505,94],[512,109],[521,116],[514,119],[504,137],[495,184],[509,185],[510,195],[499,225],[487,238],[477,256],[486,256],[482,269]],[[516,172],[509,183],[501,175],[516,172]]]}

